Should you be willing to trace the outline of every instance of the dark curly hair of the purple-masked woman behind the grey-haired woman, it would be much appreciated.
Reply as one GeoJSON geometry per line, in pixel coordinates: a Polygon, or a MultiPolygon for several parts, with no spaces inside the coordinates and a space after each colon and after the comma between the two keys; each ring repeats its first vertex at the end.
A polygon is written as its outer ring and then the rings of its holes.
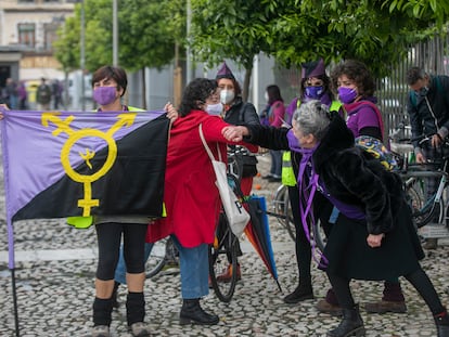
{"type": "Polygon", "coordinates": [[[346,77],[356,83],[358,94],[362,98],[369,98],[374,94],[375,82],[367,65],[360,61],[347,60],[337,65],[331,73],[332,85],[335,91],[338,89],[338,77],[346,77]]]}

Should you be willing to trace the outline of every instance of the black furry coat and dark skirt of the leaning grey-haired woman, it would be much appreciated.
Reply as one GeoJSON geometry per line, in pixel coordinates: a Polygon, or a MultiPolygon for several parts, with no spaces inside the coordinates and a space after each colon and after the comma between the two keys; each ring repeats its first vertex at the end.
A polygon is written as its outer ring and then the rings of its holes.
{"type": "MultiPolygon", "coordinates": [[[[251,141],[261,146],[273,150],[287,146],[287,129],[251,127],[249,130],[251,141]]],[[[348,219],[339,213],[324,249],[328,270],[362,280],[389,280],[415,271],[418,260],[424,255],[400,178],[356,147],[352,133],[336,115],[312,161],[330,195],[360,207],[365,213],[365,220],[348,219]],[[369,247],[367,236],[381,233],[385,233],[382,246],[369,247]]],[[[313,207],[316,204],[315,199],[313,207]]]]}

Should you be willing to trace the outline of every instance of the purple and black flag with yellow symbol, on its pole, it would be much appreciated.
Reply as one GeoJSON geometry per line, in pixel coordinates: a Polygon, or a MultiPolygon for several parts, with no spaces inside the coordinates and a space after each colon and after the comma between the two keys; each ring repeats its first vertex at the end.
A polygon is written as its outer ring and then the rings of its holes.
{"type": "Polygon", "coordinates": [[[18,336],[12,222],[161,217],[169,120],[164,112],[2,114],[9,269],[18,336]]]}

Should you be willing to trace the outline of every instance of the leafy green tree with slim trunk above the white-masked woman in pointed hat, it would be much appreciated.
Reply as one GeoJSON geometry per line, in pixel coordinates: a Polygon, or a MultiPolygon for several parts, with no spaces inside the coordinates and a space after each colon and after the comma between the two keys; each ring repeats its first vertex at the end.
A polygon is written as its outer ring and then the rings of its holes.
{"type": "Polygon", "coordinates": [[[270,21],[283,1],[192,0],[190,42],[196,61],[208,65],[231,59],[246,69],[243,96],[247,98],[254,56],[270,50],[270,21]]]}

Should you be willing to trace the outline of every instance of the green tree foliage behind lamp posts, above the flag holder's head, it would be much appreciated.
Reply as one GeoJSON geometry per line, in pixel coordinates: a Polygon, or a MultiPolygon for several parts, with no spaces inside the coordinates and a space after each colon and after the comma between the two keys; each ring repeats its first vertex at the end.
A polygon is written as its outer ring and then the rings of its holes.
{"type": "MultiPolygon", "coordinates": [[[[182,0],[118,1],[118,60],[129,70],[169,64],[175,43],[185,29],[182,0]]],[[[66,68],[79,68],[80,11],[66,20],[54,44],[56,59],[66,68]]],[[[90,72],[113,62],[113,5],[111,0],[85,0],[86,68],[90,72]]]]}

